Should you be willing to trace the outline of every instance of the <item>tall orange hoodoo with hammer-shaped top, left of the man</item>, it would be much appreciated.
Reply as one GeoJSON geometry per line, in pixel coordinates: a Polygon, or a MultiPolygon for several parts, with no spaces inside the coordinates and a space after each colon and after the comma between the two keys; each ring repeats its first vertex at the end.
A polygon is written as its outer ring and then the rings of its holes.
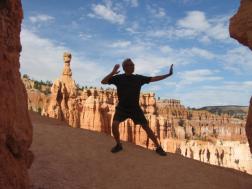
{"type": "Polygon", "coordinates": [[[76,101],[77,87],[75,81],[72,79],[71,58],[72,55],[70,53],[64,53],[62,74],[51,87],[50,101],[44,107],[42,115],[64,120],[72,127],[79,127],[80,115],[76,101]]]}

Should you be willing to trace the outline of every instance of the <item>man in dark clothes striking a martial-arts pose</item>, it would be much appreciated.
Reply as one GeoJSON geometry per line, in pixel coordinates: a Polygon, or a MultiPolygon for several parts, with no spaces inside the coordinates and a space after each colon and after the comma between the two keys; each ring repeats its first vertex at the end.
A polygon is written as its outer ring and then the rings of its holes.
{"type": "Polygon", "coordinates": [[[124,74],[118,74],[120,72],[120,65],[116,64],[112,72],[101,81],[102,84],[114,84],[117,87],[119,100],[112,123],[112,133],[114,135],[116,145],[111,149],[111,152],[117,153],[123,149],[120,142],[119,124],[127,118],[131,118],[134,121],[134,124],[140,124],[143,127],[148,137],[155,144],[156,152],[161,156],[165,156],[165,151],[162,149],[153,131],[148,126],[148,122],[139,105],[139,97],[142,85],[154,81],[160,81],[171,76],[173,74],[173,64],[171,65],[170,72],[168,74],[155,77],[133,74],[134,66],[135,65],[131,59],[125,59],[122,63],[122,67],[125,72],[124,74]]]}

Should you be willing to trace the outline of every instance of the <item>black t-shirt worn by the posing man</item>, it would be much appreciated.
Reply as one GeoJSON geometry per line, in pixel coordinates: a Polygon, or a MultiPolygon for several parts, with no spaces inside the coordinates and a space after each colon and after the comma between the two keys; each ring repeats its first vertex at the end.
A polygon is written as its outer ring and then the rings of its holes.
{"type": "Polygon", "coordinates": [[[117,95],[120,107],[134,108],[139,106],[141,86],[149,83],[151,77],[142,75],[119,74],[113,76],[108,83],[117,87],[117,95]]]}

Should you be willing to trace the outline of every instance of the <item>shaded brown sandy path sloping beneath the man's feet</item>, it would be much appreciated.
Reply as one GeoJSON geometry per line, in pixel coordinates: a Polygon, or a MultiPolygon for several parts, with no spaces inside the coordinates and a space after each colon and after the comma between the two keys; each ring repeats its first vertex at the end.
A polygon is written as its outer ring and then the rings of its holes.
{"type": "Polygon", "coordinates": [[[30,169],[34,189],[252,189],[252,176],[123,143],[112,154],[111,136],[67,127],[31,114],[34,125],[30,169]]]}

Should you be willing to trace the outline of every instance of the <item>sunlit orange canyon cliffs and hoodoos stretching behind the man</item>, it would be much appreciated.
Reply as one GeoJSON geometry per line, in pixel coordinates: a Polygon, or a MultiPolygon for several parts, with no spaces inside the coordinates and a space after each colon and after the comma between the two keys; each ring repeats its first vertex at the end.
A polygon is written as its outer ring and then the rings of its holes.
{"type": "MultiPolygon", "coordinates": [[[[71,53],[63,54],[63,70],[52,86],[23,78],[28,109],[66,122],[70,127],[112,135],[111,123],[118,99],[113,88],[79,88],[73,79],[71,53]],[[46,88],[51,88],[46,94],[46,88]]],[[[252,174],[252,157],[245,132],[246,118],[185,108],[179,100],[156,100],[141,93],[139,104],[149,126],[167,152],[252,174]]],[[[145,131],[130,119],[120,124],[121,140],[154,149],[145,131]]]]}

